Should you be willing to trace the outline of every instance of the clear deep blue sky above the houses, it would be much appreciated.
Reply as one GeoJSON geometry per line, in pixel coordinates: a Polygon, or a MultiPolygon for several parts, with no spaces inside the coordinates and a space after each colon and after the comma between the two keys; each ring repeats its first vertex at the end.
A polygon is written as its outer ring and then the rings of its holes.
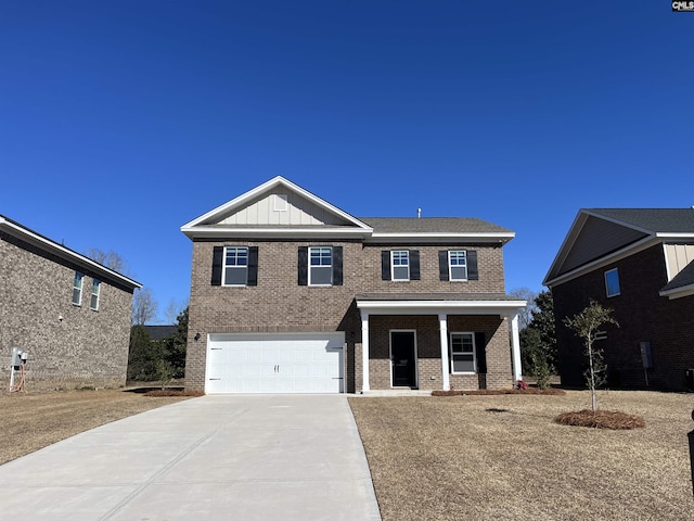
{"type": "Polygon", "coordinates": [[[693,53],[664,0],[2,0],[0,214],[163,312],[180,226],[281,175],[510,228],[506,290],[539,292],[579,208],[694,205],[693,53]]]}

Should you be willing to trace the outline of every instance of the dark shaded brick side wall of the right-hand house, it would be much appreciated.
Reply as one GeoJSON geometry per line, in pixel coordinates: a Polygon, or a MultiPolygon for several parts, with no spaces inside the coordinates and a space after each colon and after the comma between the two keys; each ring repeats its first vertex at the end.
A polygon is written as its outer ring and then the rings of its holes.
{"type": "Polygon", "coordinates": [[[566,385],[583,385],[587,364],[583,346],[564,323],[579,313],[589,298],[613,309],[619,327],[605,326],[604,350],[609,385],[646,387],[640,342],[651,342],[653,369],[648,386],[682,390],[684,371],[694,367],[694,296],[668,300],[658,291],[667,283],[663,246],[657,245],[552,288],[560,372],[566,385]],[[604,272],[618,268],[620,294],[607,298],[604,272]]]}

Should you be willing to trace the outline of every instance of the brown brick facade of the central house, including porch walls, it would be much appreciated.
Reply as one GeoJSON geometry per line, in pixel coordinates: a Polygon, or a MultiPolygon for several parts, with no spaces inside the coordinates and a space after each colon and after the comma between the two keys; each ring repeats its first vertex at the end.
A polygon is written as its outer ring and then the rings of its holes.
{"type": "MultiPolygon", "coordinates": [[[[206,339],[223,332],[344,331],[345,390],[359,392],[361,374],[361,317],[355,295],[361,293],[503,294],[501,245],[490,244],[365,244],[361,241],[193,241],[187,386],[205,387],[206,339]],[[258,282],[255,287],[211,285],[215,246],[258,246],[258,282]],[[297,283],[299,246],[342,246],[343,285],[306,287],[297,283]],[[417,250],[421,280],[384,281],[383,250],[417,250]],[[479,280],[439,280],[440,250],[475,250],[479,280]],[[198,340],[195,338],[198,336],[198,340]]],[[[509,387],[512,385],[509,327],[500,316],[449,316],[449,330],[485,332],[488,373],[451,376],[455,389],[509,387]]],[[[437,315],[370,318],[371,389],[390,389],[389,330],[414,329],[417,342],[420,389],[441,389],[440,340],[437,315]]]]}

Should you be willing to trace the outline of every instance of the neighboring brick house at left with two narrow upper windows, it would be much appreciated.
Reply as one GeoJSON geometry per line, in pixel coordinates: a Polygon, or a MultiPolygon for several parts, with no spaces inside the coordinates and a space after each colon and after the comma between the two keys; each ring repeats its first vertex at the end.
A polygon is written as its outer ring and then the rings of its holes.
{"type": "Polygon", "coordinates": [[[10,382],[20,347],[28,390],[125,385],[140,287],[0,216],[0,378],[10,382]]]}

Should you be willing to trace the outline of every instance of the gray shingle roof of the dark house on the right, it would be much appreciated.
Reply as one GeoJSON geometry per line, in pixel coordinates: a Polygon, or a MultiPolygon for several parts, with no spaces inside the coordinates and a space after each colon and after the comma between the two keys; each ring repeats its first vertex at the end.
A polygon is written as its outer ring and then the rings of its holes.
{"type": "Polygon", "coordinates": [[[587,208],[651,232],[694,233],[694,208],[587,208]]]}

